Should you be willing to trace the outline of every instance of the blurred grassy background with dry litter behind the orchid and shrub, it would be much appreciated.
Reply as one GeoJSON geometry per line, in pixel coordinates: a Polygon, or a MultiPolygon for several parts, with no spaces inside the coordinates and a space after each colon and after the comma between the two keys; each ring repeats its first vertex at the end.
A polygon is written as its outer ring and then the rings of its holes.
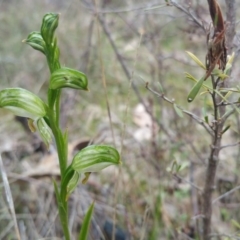
{"type": "MultiPolygon", "coordinates": [[[[178,2],[210,25],[205,0],[178,2]]],[[[225,1],[219,3],[225,12],[225,1]]],[[[193,82],[184,75],[204,74],[185,51],[204,62],[205,32],[164,0],[1,0],[1,89],[23,87],[46,99],[49,71],[44,56],[22,40],[39,30],[47,12],[61,13],[56,32],[61,64],[89,79],[89,92],[63,90],[62,126],[69,131],[69,160],[93,142],[116,146],[123,161],[120,170],[93,174],[75,191],[69,213],[73,233],[95,200],[89,239],[112,239],[114,222],[116,240],[197,239],[201,202],[194,186],[203,187],[211,139],[201,125],[179,116],[145,85],[148,82],[157,92],[163,89],[169,99],[200,117],[204,104],[211,112],[207,95],[187,103],[193,82]],[[170,171],[174,162],[181,165],[177,174],[170,171]]],[[[240,74],[239,46],[236,35],[234,48],[229,49],[237,53],[227,80],[232,86],[238,85],[240,74]]],[[[239,141],[237,114],[229,125],[224,141],[239,141]]],[[[24,120],[5,110],[0,110],[0,126],[0,150],[21,239],[62,239],[51,181],[59,177],[54,149],[46,151],[24,120]]],[[[214,198],[239,184],[239,160],[239,146],[222,152],[214,198]]],[[[2,183],[0,192],[0,239],[16,239],[2,183]]],[[[240,229],[239,205],[238,191],[214,204],[213,231],[227,233],[215,239],[239,239],[230,237],[240,229]]]]}

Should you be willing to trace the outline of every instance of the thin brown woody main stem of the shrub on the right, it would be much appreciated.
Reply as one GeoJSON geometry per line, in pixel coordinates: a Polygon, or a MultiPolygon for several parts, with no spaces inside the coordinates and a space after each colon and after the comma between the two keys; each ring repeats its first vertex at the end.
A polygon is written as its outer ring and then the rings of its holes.
{"type": "MultiPolygon", "coordinates": [[[[217,83],[219,79],[215,80],[212,76],[213,89],[217,89],[217,83]]],[[[221,83],[224,84],[224,83],[221,83]]],[[[212,101],[214,108],[214,127],[213,132],[214,136],[212,136],[212,144],[210,155],[208,158],[208,165],[206,169],[206,178],[203,190],[203,206],[202,206],[202,214],[203,214],[203,235],[202,239],[208,240],[210,239],[211,234],[211,216],[212,216],[212,193],[215,188],[215,176],[219,161],[219,152],[221,149],[221,140],[222,140],[222,130],[224,126],[224,121],[221,121],[221,116],[225,113],[225,106],[217,106],[217,102],[221,99],[215,93],[212,92],[212,101]]]]}

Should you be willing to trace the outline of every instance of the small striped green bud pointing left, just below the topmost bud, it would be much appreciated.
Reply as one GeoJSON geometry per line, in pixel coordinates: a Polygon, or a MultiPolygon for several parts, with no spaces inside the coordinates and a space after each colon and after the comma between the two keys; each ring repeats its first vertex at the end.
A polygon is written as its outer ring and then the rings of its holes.
{"type": "Polygon", "coordinates": [[[38,50],[45,54],[46,51],[46,44],[42,38],[42,35],[40,32],[31,32],[27,39],[23,40],[23,42],[30,45],[35,50],[38,50]]]}

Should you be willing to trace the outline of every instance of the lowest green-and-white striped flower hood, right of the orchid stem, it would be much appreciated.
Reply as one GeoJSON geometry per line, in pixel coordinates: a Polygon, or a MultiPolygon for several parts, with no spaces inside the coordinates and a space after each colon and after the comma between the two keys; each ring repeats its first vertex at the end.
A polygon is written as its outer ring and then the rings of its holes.
{"type": "Polygon", "coordinates": [[[91,145],[78,152],[71,167],[80,173],[98,172],[108,166],[120,164],[118,151],[110,146],[91,145]]]}

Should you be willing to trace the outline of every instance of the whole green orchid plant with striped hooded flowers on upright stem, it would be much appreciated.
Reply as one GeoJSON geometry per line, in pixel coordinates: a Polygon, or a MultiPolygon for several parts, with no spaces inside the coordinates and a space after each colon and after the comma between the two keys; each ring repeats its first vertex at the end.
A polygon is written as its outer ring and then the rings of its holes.
{"type": "MultiPolygon", "coordinates": [[[[118,151],[105,145],[91,145],[78,152],[68,166],[68,133],[60,127],[60,98],[63,88],[88,90],[86,75],[77,70],[61,67],[59,47],[55,30],[58,27],[59,14],[48,13],[44,16],[40,32],[32,32],[23,42],[46,56],[51,73],[47,102],[22,88],[7,88],[0,91],[0,107],[12,111],[17,116],[28,118],[32,131],[38,131],[44,143],[49,147],[55,143],[60,166],[61,182],[54,181],[55,194],[63,233],[66,240],[71,239],[68,227],[68,199],[84,174],[86,183],[91,172],[98,172],[110,165],[121,163],[118,151]]],[[[87,239],[94,204],[83,220],[79,239],[87,239]]]]}

